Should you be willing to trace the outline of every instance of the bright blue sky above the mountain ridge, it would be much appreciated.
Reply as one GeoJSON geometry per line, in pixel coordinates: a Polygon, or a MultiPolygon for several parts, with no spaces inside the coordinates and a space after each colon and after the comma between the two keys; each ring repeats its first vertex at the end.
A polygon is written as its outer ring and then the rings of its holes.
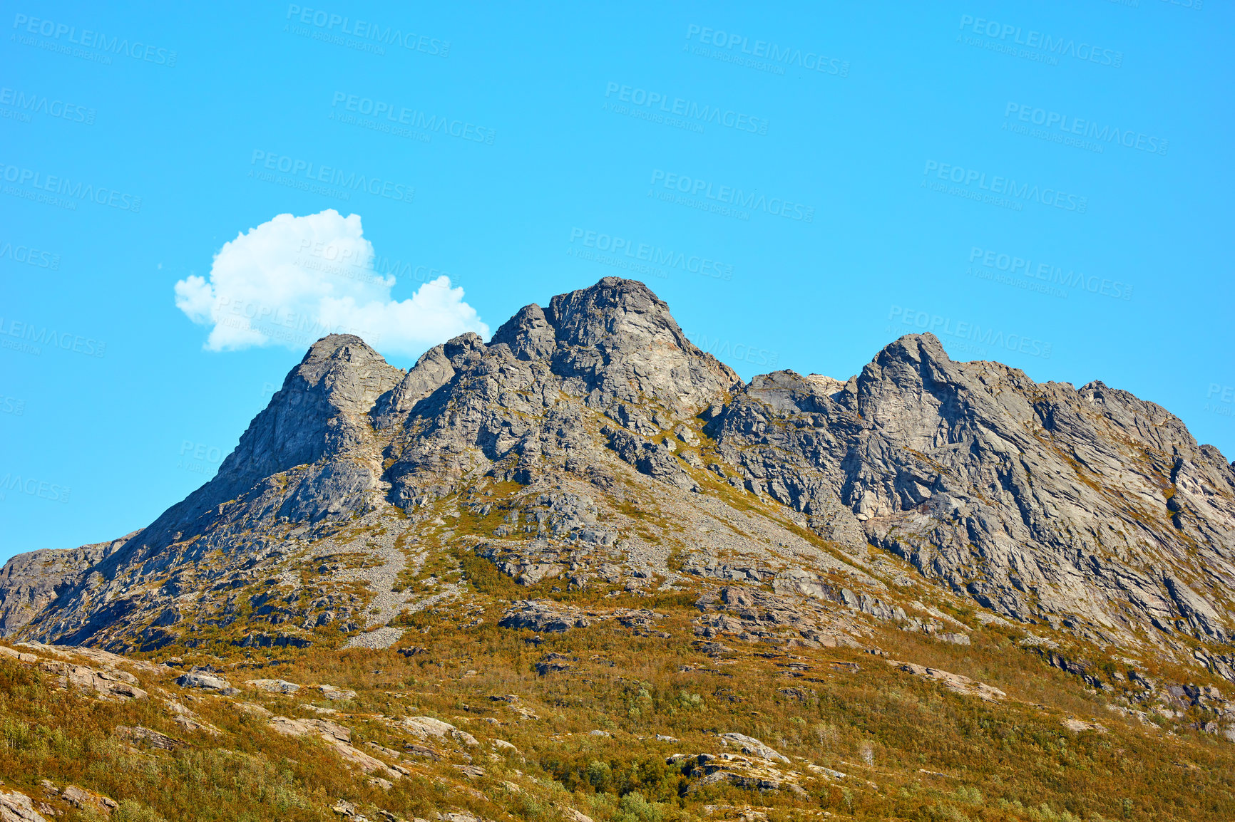
{"type": "Polygon", "coordinates": [[[131,5],[0,19],[0,559],[212,475],[304,334],[203,312],[321,289],[400,367],[611,274],[743,378],[927,327],[1235,457],[1229,4],[131,5]]]}

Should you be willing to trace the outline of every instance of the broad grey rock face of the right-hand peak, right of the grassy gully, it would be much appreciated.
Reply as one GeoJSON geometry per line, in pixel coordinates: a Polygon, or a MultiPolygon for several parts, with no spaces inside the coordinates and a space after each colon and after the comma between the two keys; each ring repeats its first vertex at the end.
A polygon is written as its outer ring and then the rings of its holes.
{"type": "Polygon", "coordinates": [[[999,613],[1112,642],[1182,617],[1226,641],[1235,470],[1126,391],[955,363],[910,334],[844,385],[756,378],[713,430],[748,488],[999,613]]]}

